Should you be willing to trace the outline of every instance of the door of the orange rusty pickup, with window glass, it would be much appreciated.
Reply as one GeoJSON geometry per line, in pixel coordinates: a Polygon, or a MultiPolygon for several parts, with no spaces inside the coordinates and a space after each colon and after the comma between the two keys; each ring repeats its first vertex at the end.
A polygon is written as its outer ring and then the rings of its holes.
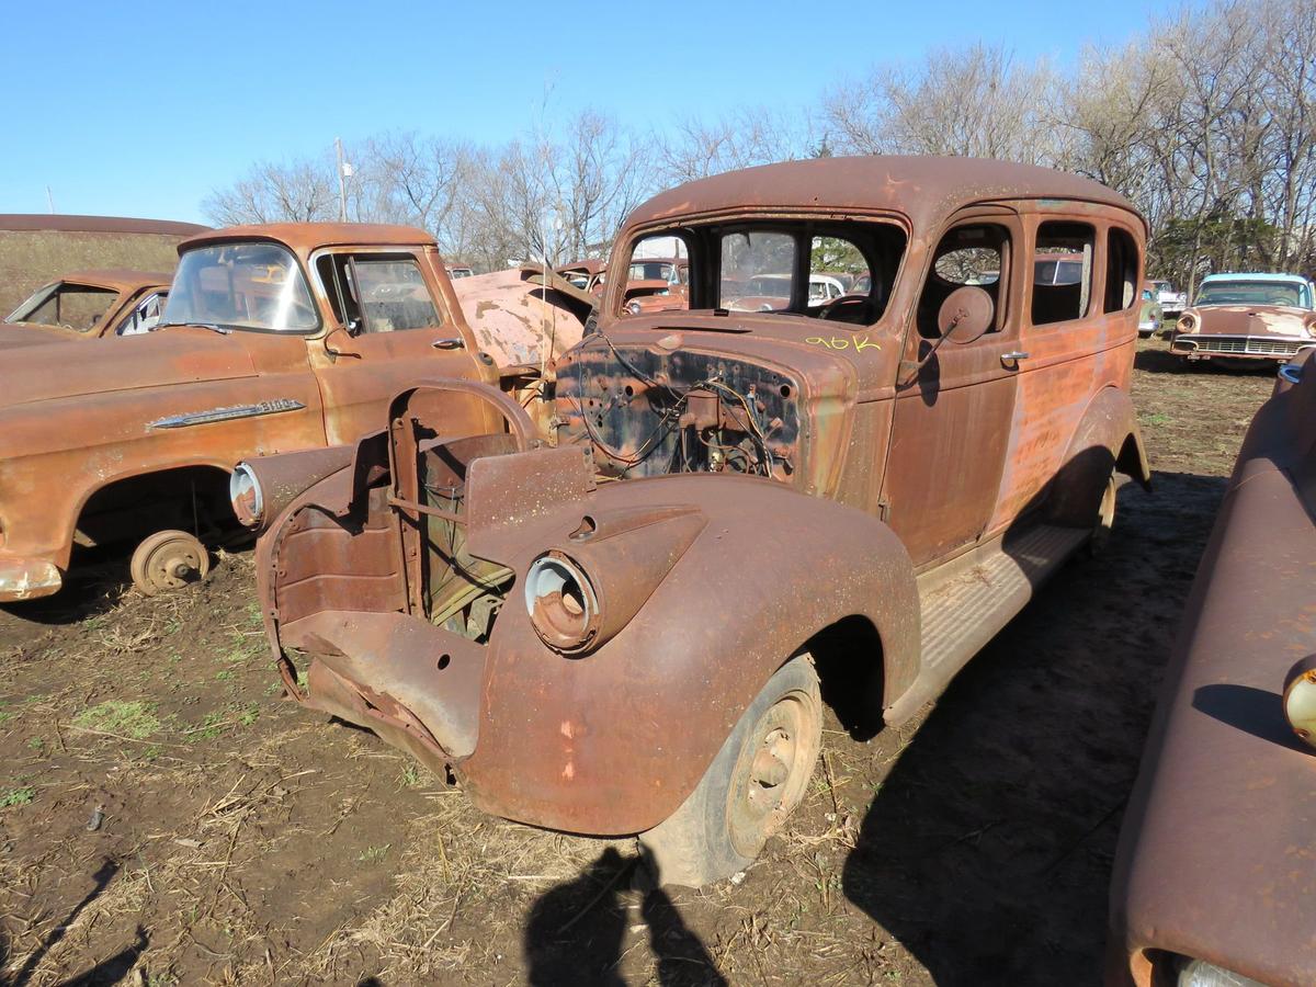
{"type": "Polygon", "coordinates": [[[330,445],[383,428],[386,404],[426,378],[474,378],[465,340],[411,251],[353,249],[313,258],[337,325],[311,342],[330,445]]]}

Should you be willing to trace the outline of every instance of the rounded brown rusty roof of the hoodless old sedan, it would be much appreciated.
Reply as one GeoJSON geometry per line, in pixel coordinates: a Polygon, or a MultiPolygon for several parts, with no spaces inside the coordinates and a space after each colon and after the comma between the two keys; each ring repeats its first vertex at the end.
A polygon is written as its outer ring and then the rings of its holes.
{"type": "Polygon", "coordinates": [[[761,164],[687,182],[638,205],[626,226],[746,208],[890,209],[916,226],[974,203],[1069,199],[1138,215],[1119,192],[1087,178],[986,158],[866,155],[761,164]]]}

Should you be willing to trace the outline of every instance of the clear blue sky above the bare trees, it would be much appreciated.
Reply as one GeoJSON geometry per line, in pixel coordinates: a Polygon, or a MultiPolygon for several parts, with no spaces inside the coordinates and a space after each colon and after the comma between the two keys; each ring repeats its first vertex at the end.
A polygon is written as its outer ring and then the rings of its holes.
{"type": "Polygon", "coordinates": [[[338,136],[499,143],[545,105],[550,124],[591,107],[658,130],[741,105],[805,112],[930,46],[1004,42],[1063,66],[1178,5],[11,0],[0,212],[46,212],[50,186],[59,212],[201,220],[253,162],[338,136]]]}

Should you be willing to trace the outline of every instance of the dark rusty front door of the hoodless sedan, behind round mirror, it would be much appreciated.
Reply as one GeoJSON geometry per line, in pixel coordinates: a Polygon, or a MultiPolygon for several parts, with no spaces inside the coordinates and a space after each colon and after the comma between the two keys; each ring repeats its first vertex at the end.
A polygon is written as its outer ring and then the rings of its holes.
{"type": "Polygon", "coordinates": [[[882,508],[915,566],[971,545],[991,520],[1015,409],[1020,265],[1017,216],[979,209],[958,216],[932,254],[905,337],[882,482],[882,508]],[[937,340],[937,313],[974,284],[994,303],[990,332],[957,345],[937,340]]]}

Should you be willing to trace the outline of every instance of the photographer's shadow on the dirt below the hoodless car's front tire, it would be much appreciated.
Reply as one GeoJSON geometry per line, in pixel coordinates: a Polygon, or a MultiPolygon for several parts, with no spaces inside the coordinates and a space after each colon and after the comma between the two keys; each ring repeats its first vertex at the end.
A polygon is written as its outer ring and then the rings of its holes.
{"type": "Polygon", "coordinates": [[[712,987],[726,980],[704,944],[636,857],[608,848],[580,876],[550,888],[530,909],[525,963],[534,987],[624,987],[619,967],[647,937],[650,983],[712,987]],[[632,890],[634,888],[634,890],[632,890]]]}

